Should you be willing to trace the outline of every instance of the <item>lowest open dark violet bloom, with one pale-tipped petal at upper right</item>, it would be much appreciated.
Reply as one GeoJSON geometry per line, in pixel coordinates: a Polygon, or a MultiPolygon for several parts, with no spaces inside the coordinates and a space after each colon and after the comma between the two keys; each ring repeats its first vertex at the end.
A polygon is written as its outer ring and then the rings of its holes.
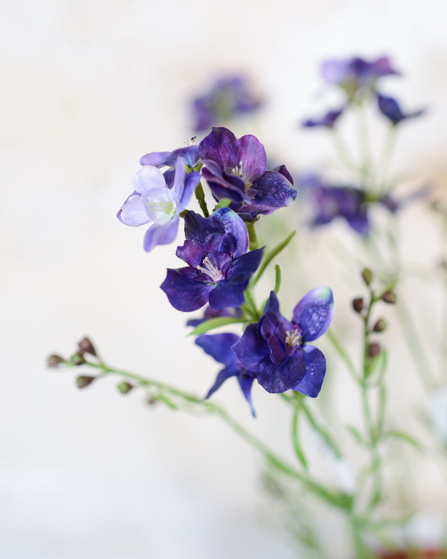
{"type": "Polygon", "coordinates": [[[243,367],[273,394],[296,390],[315,398],[326,373],[326,358],[313,342],[325,333],[334,315],[329,287],[316,287],[299,301],[292,321],[279,312],[272,291],[258,324],[249,324],[233,346],[243,367]]]}

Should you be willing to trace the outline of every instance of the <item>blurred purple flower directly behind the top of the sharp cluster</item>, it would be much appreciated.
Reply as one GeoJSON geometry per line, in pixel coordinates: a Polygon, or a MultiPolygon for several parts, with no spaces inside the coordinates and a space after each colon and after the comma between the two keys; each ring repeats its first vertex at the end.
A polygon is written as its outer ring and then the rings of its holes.
{"type": "Polygon", "coordinates": [[[224,76],[208,93],[193,101],[195,129],[209,130],[231,117],[255,111],[260,100],[250,91],[248,79],[241,75],[224,76]]]}

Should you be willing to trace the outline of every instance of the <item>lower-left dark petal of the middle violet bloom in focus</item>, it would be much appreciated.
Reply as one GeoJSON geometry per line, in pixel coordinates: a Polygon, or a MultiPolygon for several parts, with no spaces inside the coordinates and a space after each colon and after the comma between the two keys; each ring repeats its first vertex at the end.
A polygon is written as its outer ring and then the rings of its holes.
{"type": "Polygon", "coordinates": [[[197,271],[187,268],[168,268],[165,281],[161,289],[168,296],[170,304],[178,311],[196,311],[206,305],[212,283],[198,281],[197,271]]]}

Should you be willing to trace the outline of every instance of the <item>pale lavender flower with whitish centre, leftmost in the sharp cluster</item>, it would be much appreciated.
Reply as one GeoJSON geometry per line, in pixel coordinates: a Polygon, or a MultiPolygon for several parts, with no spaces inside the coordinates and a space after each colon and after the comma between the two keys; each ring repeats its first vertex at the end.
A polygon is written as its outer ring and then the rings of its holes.
{"type": "Polygon", "coordinates": [[[139,227],[150,222],[143,247],[146,252],[156,245],[172,243],[177,236],[180,212],[186,209],[191,194],[199,182],[199,173],[187,173],[184,160],[178,157],[175,173],[167,178],[153,165],[143,165],[132,178],[134,192],[117,213],[125,225],[139,227]]]}

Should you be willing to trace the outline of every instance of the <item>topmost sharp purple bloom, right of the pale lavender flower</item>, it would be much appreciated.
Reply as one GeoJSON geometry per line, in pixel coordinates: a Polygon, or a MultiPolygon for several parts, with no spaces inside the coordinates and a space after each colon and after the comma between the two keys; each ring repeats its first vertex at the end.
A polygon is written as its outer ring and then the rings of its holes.
{"type": "Polygon", "coordinates": [[[236,139],[230,130],[213,127],[201,141],[199,155],[202,177],[216,200],[230,198],[231,209],[248,219],[289,206],[297,196],[284,165],[279,172],[266,170],[264,146],[251,134],[236,139]]]}

